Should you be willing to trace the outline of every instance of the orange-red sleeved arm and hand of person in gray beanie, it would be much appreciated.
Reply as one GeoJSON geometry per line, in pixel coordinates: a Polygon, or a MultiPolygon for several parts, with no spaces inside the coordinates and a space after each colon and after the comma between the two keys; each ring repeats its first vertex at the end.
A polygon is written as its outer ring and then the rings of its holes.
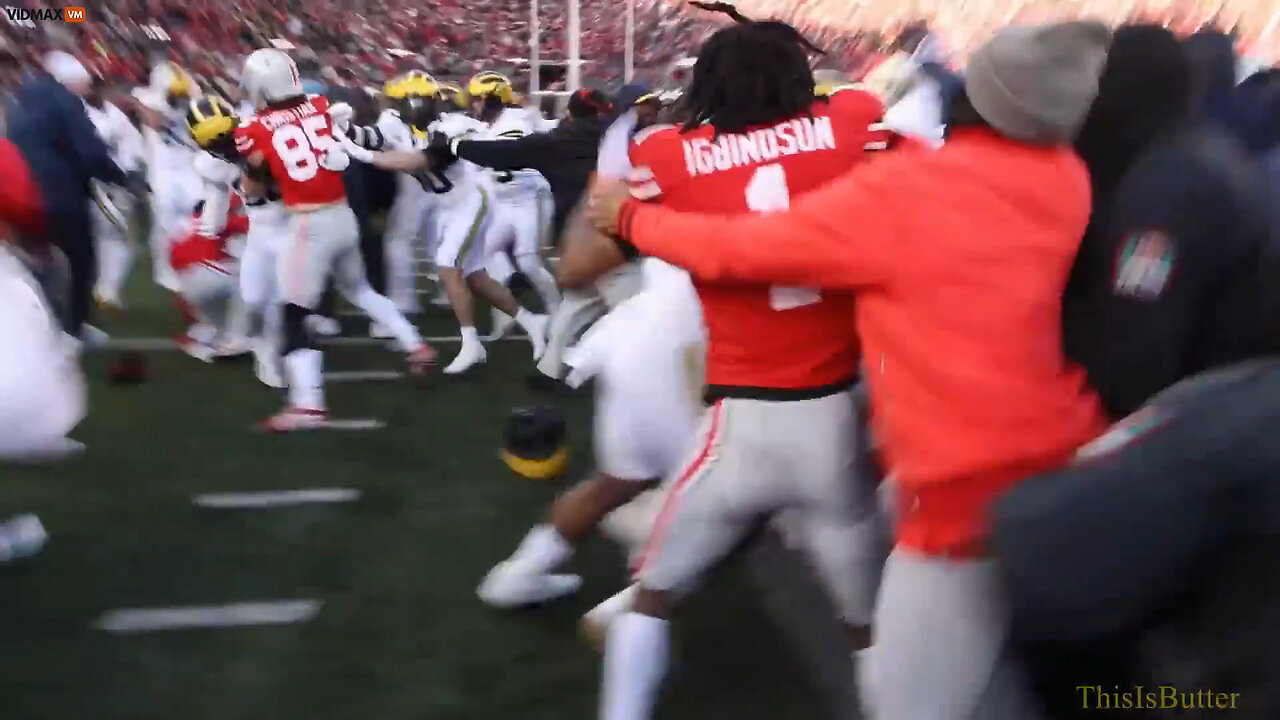
{"type": "Polygon", "coordinates": [[[859,287],[888,281],[904,255],[892,215],[900,172],[891,161],[867,165],[787,211],[750,215],[677,213],[609,183],[593,196],[593,217],[625,254],[653,255],[703,279],[859,287]]]}

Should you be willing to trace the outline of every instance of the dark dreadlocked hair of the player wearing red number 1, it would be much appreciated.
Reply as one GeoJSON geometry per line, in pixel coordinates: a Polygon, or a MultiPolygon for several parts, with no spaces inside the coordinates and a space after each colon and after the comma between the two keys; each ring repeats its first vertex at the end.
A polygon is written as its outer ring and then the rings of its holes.
{"type": "Polygon", "coordinates": [[[806,51],[822,53],[778,20],[742,22],[713,35],[698,53],[681,97],[685,131],[710,123],[717,135],[804,114],[814,101],[806,51]]]}

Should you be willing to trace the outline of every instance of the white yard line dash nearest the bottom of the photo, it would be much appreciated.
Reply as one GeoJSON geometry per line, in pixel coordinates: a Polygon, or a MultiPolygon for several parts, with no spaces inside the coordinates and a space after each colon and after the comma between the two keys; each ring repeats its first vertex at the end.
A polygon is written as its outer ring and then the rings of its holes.
{"type": "Polygon", "coordinates": [[[320,612],[319,600],[276,600],[188,607],[111,610],[93,626],[113,634],[183,630],[191,628],[237,628],[306,623],[320,612]]]}

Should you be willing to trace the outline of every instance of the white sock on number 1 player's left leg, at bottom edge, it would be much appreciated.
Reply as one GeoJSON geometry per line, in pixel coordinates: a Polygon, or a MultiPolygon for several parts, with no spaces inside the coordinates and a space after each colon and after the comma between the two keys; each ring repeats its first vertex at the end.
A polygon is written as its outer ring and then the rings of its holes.
{"type": "Polygon", "coordinates": [[[662,618],[627,612],[609,624],[599,720],[649,720],[669,646],[671,628],[662,618]]]}

